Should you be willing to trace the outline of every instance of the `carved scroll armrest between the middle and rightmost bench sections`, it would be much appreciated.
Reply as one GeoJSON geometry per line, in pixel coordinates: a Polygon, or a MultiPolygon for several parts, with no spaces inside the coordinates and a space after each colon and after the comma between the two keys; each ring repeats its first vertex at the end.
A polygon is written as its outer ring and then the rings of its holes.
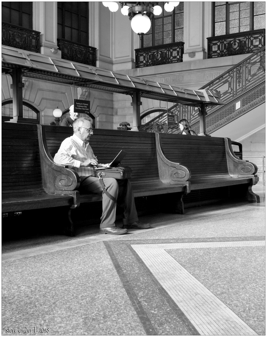
{"type": "Polygon", "coordinates": [[[177,182],[186,182],[190,179],[191,173],[186,166],[172,162],[165,157],[160,142],[160,134],[155,133],[155,137],[160,180],[164,184],[177,184],[177,182]]]}

